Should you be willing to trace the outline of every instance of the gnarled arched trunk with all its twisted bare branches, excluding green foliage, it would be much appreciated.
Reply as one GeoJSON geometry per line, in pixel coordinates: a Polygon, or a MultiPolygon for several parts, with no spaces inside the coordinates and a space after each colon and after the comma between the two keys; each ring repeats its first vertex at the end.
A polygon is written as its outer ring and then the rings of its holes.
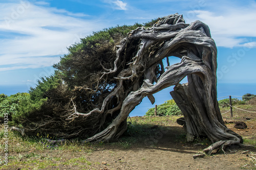
{"type": "Polygon", "coordinates": [[[25,128],[25,133],[43,129],[52,135],[62,133],[61,137],[90,135],[86,141],[109,141],[123,134],[127,128],[127,116],[145,96],[153,104],[154,93],[176,85],[171,95],[184,114],[187,141],[201,135],[208,136],[212,142],[217,142],[205,150],[208,153],[221,146],[243,142],[242,137],[229,130],[222,120],[216,89],[217,47],[205,23],[197,20],[189,25],[182,15],[169,15],[160,18],[151,28],[131,31],[115,49],[115,56],[112,56],[114,51],[108,53],[111,56],[104,52],[96,57],[86,56],[82,51],[73,56],[82,61],[94,57],[95,65],[99,62],[97,75],[91,74],[91,79],[95,76],[96,81],[90,79],[93,82],[90,86],[81,83],[76,87],[84,93],[90,91],[89,96],[96,96],[89,109],[88,103],[77,102],[76,105],[71,99],[65,105],[69,109],[61,112],[60,117],[54,121],[49,116],[49,121],[41,118],[33,124],[36,125],[34,128],[25,128]],[[170,56],[180,58],[181,62],[169,66],[170,56]],[[166,68],[164,59],[168,65],[166,68]],[[186,76],[188,83],[180,85],[186,76]],[[55,122],[65,131],[56,129],[55,122]]]}

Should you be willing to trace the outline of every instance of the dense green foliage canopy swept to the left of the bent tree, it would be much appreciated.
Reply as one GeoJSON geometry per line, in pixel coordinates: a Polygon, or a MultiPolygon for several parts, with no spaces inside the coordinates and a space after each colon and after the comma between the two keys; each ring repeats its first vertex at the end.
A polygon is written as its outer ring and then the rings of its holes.
{"type": "MultiPolygon", "coordinates": [[[[115,77],[118,72],[129,67],[126,64],[135,55],[122,55],[116,63],[117,71],[104,75],[104,72],[109,72],[114,67],[120,40],[131,30],[151,27],[155,21],[104,29],[81,38],[80,42],[68,47],[69,53],[53,65],[56,68],[55,74],[41,78],[37,86],[31,88],[29,99],[20,105],[18,114],[14,116],[15,123],[21,124],[29,135],[40,132],[65,138],[88,137],[106,128],[118,115],[118,110],[105,116],[95,113],[86,119],[70,120],[69,116],[74,112],[88,113],[102,106],[104,98],[117,86],[115,77]]],[[[136,45],[131,48],[133,46],[136,45]]],[[[132,81],[127,81],[123,86],[127,88],[131,84],[132,81]]],[[[113,98],[107,107],[111,110],[118,105],[119,99],[113,98]]]]}

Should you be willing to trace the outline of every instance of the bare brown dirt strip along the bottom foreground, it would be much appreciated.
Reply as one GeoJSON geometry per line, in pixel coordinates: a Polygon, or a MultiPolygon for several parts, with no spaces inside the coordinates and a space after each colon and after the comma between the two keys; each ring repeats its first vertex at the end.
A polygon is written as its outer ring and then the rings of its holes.
{"type": "MultiPolygon", "coordinates": [[[[168,147],[168,144],[161,147],[160,144],[156,148],[126,150],[106,148],[99,149],[91,154],[64,153],[65,156],[62,155],[62,158],[86,156],[88,161],[93,162],[88,169],[241,169],[241,166],[250,164],[250,158],[246,157],[246,154],[241,154],[244,151],[243,149],[226,155],[217,154],[193,159],[193,155],[198,153],[200,148],[187,145],[179,147],[178,145],[169,145],[168,147]]],[[[58,154],[58,152],[51,153],[52,156],[58,154]]],[[[79,167],[73,165],[62,165],[58,168],[79,169],[79,167]]],[[[51,169],[54,169],[54,167],[51,169]]]]}

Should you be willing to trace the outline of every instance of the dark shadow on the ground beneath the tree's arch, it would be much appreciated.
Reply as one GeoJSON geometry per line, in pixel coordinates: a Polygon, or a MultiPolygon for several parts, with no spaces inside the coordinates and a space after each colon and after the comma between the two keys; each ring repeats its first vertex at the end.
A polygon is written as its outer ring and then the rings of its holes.
{"type": "Polygon", "coordinates": [[[206,138],[186,142],[186,133],[180,125],[155,125],[152,123],[132,124],[120,139],[106,143],[118,149],[143,149],[195,153],[211,144],[206,138]],[[195,143],[200,143],[193,147],[195,143]],[[191,150],[191,152],[189,151],[191,150]]]}

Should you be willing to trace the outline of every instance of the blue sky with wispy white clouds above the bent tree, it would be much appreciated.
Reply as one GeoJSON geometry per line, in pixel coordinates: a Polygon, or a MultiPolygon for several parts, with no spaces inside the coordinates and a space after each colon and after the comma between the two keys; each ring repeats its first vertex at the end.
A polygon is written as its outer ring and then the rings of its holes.
{"type": "Polygon", "coordinates": [[[48,0],[0,2],[0,85],[35,86],[79,39],[116,25],[183,14],[205,22],[218,47],[219,83],[256,83],[256,2],[48,0]]]}

